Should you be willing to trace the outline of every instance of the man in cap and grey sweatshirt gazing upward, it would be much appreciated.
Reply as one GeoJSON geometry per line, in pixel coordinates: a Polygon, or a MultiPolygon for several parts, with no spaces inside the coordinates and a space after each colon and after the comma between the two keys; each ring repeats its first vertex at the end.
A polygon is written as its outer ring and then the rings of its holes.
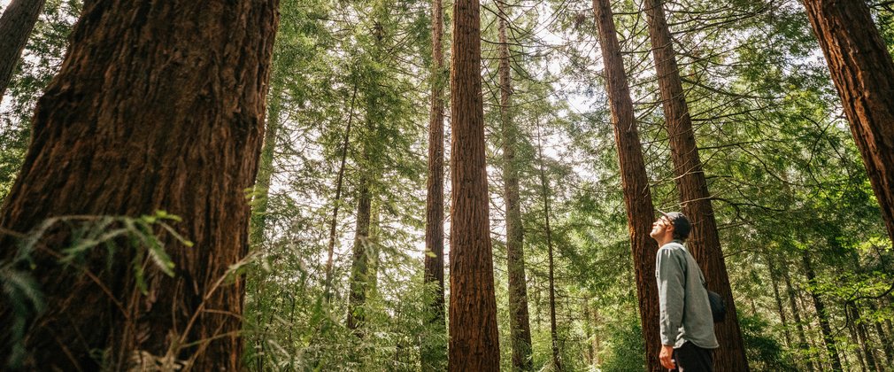
{"type": "Polygon", "coordinates": [[[664,213],[649,233],[658,242],[655,276],[661,309],[665,368],[682,372],[713,371],[712,349],[718,348],[704,275],[683,242],[692,226],[679,212],[664,213]]]}

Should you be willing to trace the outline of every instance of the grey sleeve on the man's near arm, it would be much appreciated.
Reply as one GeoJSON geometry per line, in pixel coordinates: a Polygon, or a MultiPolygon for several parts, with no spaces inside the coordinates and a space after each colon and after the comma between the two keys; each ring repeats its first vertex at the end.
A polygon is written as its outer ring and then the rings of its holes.
{"type": "Polygon", "coordinates": [[[674,345],[683,322],[684,262],[678,249],[659,249],[655,257],[658,279],[661,337],[663,345],[674,345]]]}

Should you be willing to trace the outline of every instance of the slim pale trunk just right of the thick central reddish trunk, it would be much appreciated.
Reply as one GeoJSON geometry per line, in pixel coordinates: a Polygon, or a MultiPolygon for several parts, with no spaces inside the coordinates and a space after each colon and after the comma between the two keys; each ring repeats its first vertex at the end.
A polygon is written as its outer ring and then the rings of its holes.
{"type": "Polygon", "coordinates": [[[513,370],[534,368],[531,358],[531,324],[527,313],[524,232],[519,198],[519,165],[515,158],[519,128],[511,114],[509,40],[506,4],[497,0],[500,32],[500,122],[502,124],[503,191],[506,200],[506,264],[509,275],[509,319],[513,370]]]}

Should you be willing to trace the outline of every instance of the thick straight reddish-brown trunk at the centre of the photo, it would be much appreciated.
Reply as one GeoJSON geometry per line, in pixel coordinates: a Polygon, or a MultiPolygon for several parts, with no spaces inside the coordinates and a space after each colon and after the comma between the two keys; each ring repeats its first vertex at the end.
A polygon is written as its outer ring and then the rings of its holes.
{"type": "Polygon", "coordinates": [[[477,0],[453,3],[451,44],[451,371],[500,369],[481,97],[477,0]]]}

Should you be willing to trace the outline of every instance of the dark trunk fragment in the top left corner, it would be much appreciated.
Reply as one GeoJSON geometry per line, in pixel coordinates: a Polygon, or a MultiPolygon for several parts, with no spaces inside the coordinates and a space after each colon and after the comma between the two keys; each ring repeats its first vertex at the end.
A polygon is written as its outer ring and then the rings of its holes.
{"type": "Polygon", "coordinates": [[[45,0],[13,0],[0,16],[0,100],[13,79],[21,51],[38,22],[45,0]]]}

